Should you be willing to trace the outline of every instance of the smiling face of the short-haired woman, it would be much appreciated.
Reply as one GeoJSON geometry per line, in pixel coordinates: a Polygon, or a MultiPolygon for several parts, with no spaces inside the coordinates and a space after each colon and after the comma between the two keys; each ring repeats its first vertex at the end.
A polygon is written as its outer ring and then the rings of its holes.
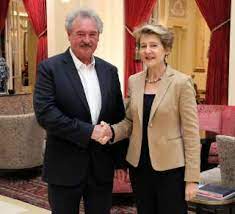
{"type": "Polygon", "coordinates": [[[155,34],[142,34],[140,37],[140,57],[142,62],[152,68],[164,64],[165,56],[169,53],[155,34]]]}

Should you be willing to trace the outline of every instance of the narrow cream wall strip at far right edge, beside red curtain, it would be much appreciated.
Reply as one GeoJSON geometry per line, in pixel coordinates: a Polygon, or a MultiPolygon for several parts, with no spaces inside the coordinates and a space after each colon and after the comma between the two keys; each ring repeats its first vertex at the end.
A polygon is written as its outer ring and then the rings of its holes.
{"type": "Polygon", "coordinates": [[[231,1],[231,34],[230,34],[230,63],[229,63],[229,105],[235,105],[235,2],[231,1]]]}

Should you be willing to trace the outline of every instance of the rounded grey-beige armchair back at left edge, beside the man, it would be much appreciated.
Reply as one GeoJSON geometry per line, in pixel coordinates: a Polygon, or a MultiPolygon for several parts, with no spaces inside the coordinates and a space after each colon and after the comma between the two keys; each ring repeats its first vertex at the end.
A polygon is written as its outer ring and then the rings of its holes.
{"type": "Polygon", "coordinates": [[[44,134],[34,113],[1,115],[0,129],[1,170],[42,165],[44,134]]]}

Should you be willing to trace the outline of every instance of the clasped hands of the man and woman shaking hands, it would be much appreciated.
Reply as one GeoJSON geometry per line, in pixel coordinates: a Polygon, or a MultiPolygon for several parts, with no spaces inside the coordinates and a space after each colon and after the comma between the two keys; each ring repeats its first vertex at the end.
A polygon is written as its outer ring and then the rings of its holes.
{"type": "Polygon", "coordinates": [[[99,142],[100,144],[106,144],[113,137],[113,132],[110,125],[104,121],[95,125],[93,129],[91,139],[99,142]]]}

